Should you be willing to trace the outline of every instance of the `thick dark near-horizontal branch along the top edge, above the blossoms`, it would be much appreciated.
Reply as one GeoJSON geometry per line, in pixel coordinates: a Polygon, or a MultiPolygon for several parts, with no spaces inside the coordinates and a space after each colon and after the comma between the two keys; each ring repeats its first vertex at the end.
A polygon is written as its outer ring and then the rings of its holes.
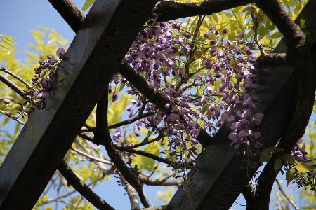
{"type": "Polygon", "coordinates": [[[196,15],[211,15],[252,2],[252,0],[209,0],[202,3],[160,1],[155,12],[159,15],[157,21],[160,22],[196,15]]]}

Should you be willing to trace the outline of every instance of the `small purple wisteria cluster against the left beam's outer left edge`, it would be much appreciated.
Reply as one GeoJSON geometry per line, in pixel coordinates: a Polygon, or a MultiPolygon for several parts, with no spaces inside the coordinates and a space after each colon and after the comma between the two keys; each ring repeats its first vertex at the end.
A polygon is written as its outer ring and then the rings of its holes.
{"type": "Polygon", "coordinates": [[[32,113],[35,107],[37,109],[44,108],[44,99],[48,97],[51,90],[51,83],[55,81],[55,71],[60,60],[65,55],[65,49],[59,48],[56,52],[58,59],[54,55],[47,57],[46,60],[39,62],[39,67],[34,69],[34,76],[32,78],[32,87],[27,90],[27,113],[32,113]]]}

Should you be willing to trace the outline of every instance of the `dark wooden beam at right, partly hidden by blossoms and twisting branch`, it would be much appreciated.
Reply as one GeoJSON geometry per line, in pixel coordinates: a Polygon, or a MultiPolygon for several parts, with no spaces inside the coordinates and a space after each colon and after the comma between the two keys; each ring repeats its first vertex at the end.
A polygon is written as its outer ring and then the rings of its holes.
{"type": "MultiPolygon", "coordinates": [[[[304,32],[316,37],[316,1],[309,1],[296,23],[305,20],[304,32]]],[[[275,52],[286,52],[283,41],[275,52]]],[[[259,141],[263,147],[275,146],[286,129],[295,108],[297,74],[294,66],[266,64],[259,67],[260,102],[258,109],[265,113],[261,125],[256,127],[261,132],[259,141]]],[[[257,165],[248,170],[244,165],[243,155],[236,155],[237,150],[230,146],[228,125],[220,128],[215,146],[207,146],[197,158],[197,167],[189,173],[182,188],[169,202],[167,209],[229,209],[232,203],[254,175],[258,167],[258,157],[251,158],[257,165]]]]}

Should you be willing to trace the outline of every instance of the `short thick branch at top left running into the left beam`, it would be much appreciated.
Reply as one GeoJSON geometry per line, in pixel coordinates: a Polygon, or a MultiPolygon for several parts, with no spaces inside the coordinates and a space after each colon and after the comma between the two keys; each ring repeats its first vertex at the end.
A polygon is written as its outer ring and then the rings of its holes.
{"type": "Polygon", "coordinates": [[[48,0],[55,10],[66,20],[72,30],[77,33],[84,22],[84,14],[70,0],[48,0]]]}

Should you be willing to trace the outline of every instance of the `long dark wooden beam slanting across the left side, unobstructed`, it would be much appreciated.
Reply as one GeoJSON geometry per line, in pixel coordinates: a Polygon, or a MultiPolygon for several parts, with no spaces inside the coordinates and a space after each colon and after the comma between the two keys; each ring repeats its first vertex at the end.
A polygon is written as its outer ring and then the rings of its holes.
{"type": "Polygon", "coordinates": [[[45,109],[27,120],[0,167],[0,209],[32,209],[155,0],[98,0],[58,66],[45,109]]]}

